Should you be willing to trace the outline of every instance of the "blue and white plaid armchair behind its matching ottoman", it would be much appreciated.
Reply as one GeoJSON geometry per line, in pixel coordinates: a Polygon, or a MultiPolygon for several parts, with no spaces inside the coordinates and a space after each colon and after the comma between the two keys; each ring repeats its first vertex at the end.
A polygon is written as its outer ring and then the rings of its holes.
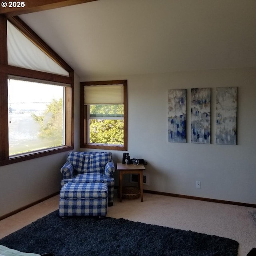
{"type": "Polygon", "coordinates": [[[60,172],[62,186],[68,182],[105,182],[108,185],[108,206],[113,205],[115,167],[111,152],[69,152],[60,172]]]}

